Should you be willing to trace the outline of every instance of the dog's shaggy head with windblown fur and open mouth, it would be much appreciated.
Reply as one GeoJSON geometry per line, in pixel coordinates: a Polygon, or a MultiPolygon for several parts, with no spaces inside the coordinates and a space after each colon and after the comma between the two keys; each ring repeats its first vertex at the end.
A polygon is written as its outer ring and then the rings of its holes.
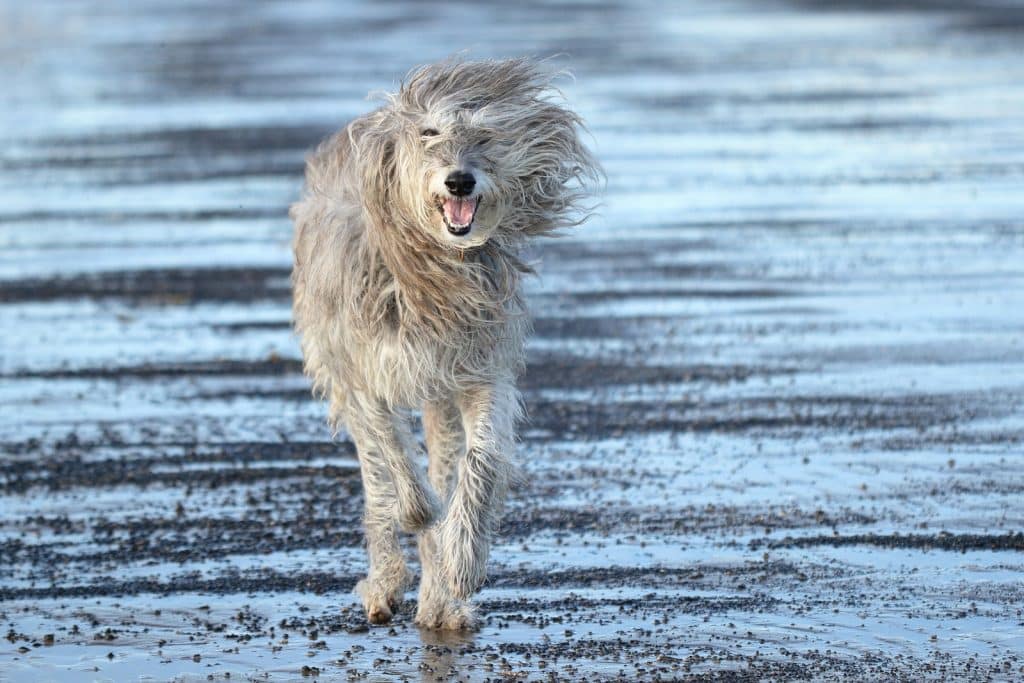
{"type": "Polygon", "coordinates": [[[380,229],[425,230],[459,249],[577,222],[600,169],[557,95],[526,59],[412,72],[350,128],[364,207],[380,229]]]}

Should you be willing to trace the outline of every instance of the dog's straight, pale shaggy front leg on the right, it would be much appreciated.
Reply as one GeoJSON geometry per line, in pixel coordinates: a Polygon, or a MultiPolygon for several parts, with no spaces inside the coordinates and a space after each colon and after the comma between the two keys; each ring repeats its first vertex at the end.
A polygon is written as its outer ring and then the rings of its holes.
{"type": "Polygon", "coordinates": [[[486,577],[490,538],[509,484],[518,396],[511,381],[501,382],[467,390],[459,408],[466,454],[437,542],[441,574],[453,597],[465,600],[486,577]]]}

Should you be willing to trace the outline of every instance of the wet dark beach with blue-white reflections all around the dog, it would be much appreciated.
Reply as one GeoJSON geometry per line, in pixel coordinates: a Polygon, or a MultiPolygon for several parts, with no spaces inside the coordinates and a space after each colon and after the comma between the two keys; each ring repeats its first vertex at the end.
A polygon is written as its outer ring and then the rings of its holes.
{"type": "Polygon", "coordinates": [[[1009,3],[0,5],[0,680],[1019,680],[1022,54],[1009,3]],[[286,207],[462,48],[561,53],[608,185],[442,637],[351,594],[286,207]]]}

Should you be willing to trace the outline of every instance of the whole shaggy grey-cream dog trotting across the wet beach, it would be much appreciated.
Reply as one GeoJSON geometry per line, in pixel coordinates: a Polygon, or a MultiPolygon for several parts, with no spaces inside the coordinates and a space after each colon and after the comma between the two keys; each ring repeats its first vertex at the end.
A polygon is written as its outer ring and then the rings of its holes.
{"type": "Polygon", "coordinates": [[[529,329],[518,252],[569,224],[600,173],[580,124],[527,60],[452,61],[413,72],[309,159],[291,211],[295,326],[358,451],[370,571],[356,590],[375,624],[410,580],[396,525],[420,532],[416,622],[475,623],[529,329]],[[426,478],[410,458],[420,407],[426,478]]]}

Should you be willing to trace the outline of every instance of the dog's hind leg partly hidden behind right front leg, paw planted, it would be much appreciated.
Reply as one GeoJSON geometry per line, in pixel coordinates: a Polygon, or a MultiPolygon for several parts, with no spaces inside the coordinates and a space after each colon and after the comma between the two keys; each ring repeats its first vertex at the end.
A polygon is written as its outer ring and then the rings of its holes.
{"type": "MultiPolygon", "coordinates": [[[[427,439],[430,484],[442,499],[447,499],[455,483],[456,464],[466,452],[466,433],[462,415],[454,400],[430,401],[423,408],[423,431],[427,439]]],[[[437,532],[433,528],[420,533],[419,604],[416,623],[430,629],[467,629],[476,625],[473,606],[452,597],[447,582],[439,575],[437,532]]]]}

